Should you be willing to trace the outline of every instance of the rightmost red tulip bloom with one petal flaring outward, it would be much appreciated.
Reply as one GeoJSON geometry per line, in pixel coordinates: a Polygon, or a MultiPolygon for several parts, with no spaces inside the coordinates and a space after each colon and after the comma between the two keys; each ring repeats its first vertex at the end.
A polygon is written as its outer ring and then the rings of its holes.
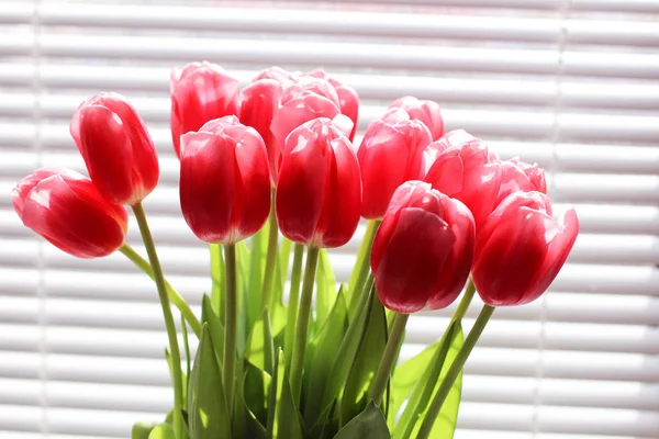
{"type": "Polygon", "coordinates": [[[563,266],[579,233],[573,209],[560,222],[540,192],[515,192],[485,222],[476,243],[473,283],[491,306],[538,299],[563,266]]]}

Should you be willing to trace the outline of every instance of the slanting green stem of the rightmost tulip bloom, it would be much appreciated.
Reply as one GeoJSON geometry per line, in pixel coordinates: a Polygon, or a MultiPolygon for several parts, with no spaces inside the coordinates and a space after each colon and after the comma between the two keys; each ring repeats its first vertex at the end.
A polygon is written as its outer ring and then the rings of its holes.
{"type": "Polygon", "coordinates": [[[476,346],[476,342],[480,338],[481,334],[483,334],[483,329],[490,320],[490,317],[492,316],[493,312],[493,306],[483,305],[483,308],[481,309],[476,322],[473,323],[473,327],[469,331],[469,335],[465,339],[462,347],[460,348],[458,354],[450,364],[450,369],[446,373],[446,376],[442,381],[442,384],[439,384],[439,389],[433,397],[433,402],[431,403],[428,410],[423,419],[423,423],[421,424],[421,428],[418,430],[416,439],[427,439],[431,435],[433,426],[435,425],[435,419],[437,418],[437,415],[439,415],[439,410],[442,410],[442,405],[444,404],[446,396],[448,396],[450,389],[453,387],[456,379],[460,374],[460,371],[465,367],[465,362],[467,362],[467,359],[469,358],[471,350],[476,346]]]}

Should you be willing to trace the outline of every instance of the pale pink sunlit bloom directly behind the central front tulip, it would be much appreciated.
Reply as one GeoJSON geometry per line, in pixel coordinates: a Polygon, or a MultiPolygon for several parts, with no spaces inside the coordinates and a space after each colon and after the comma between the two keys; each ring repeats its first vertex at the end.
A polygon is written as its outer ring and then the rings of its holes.
{"type": "MultiPolygon", "coordinates": [[[[277,183],[287,136],[304,122],[317,117],[334,119],[340,110],[334,87],[323,79],[311,77],[301,77],[297,81],[281,83],[276,91],[273,102],[270,123],[273,147],[269,158],[272,181],[277,183]]],[[[347,117],[345,120],[349,122],[347,117]]],[[[342,128],[347,131],[347,135],[353,126],[348,123],[342,128]]]]}

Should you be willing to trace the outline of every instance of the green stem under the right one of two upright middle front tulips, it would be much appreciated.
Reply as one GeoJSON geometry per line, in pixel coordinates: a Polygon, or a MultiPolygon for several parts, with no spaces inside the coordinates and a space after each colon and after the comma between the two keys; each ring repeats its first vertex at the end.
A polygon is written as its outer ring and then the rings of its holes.
{"type": "Polygon", "coordinates": [[[313,299],[313,284],[315,271],[319,263],[319,251],[316,247],[309,247],[306,252],[306,267],[304,267],[304,280],[302,282],[302,296],[300,297],[300,312],[295,325],[295,341],[293,344],[293,361],[291,362],[291,391],[295,407],[300,402],[302,390],[302,369],[304,365],[304,349],[309,334],[309,319],[311,317],[311,300],[313,299]]]}

